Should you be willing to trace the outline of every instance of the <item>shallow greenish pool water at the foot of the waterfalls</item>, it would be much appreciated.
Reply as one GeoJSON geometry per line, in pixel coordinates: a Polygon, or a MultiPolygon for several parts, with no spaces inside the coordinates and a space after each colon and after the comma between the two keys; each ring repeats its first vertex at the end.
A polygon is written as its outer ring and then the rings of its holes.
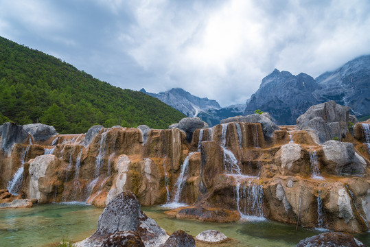
{"type": "MultiPolygon", "coordinates": [[[[174,220],[163,214],[162,207],[143,207],[143,211],[167,233],[182,229],[196,236],[215,229],[235,239],[222,246],[295,246],[301,239],[320,233],[278,222],[205,223],[193,220],[174,220]]],[[[0,246],[55,246],[62,239],[79,241],[96,229],[102,209],[81,204],[44,204],[29,209],[0,210],[0,246]]],[[[356,235],[370,245],[370,233],[356,235]]]]}

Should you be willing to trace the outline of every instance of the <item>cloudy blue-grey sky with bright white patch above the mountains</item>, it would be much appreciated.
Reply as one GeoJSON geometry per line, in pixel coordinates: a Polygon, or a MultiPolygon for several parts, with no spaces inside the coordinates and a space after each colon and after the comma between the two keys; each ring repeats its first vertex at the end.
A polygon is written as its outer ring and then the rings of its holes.
{"type": "Polygon", "coordinates": [[[369,0],[0,0],[0,36],[123,89],[244,103],[370,54],[369,0]]]}

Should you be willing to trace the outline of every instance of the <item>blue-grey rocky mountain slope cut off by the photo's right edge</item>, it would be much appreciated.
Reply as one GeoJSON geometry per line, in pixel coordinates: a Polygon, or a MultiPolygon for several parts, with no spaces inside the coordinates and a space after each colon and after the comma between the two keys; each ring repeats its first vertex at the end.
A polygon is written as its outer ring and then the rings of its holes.
{"type": "Polygon", "coordinates": [[[360,56],[335,71],[316,78],[322,89],[314,94],[322,102],[335,100],[357,116],[370,115],[370,55],[360,56]]]}

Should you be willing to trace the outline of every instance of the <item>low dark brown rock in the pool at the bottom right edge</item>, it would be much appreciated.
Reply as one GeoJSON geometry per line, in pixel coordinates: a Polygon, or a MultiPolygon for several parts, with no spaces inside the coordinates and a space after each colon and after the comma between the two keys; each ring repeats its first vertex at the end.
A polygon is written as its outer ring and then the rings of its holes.
{"type": "Polygon", "coordinates": [[[321,233],[301,240],[296,247],[366,247],[348,233],[321,233]]]}

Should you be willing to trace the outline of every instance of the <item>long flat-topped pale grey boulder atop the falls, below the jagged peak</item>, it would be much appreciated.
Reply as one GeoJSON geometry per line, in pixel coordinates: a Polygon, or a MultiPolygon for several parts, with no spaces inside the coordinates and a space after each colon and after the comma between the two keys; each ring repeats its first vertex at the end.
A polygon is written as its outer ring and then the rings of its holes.
{"type": "Polygon", "coordinates": [[[262,114],[251,114],[247,116],[236,116],[236,117],[229,117],[227,119],[222,119],[221,124],[227,124],[231,122],[244,122],[244,123],[259,123],[262,125],[262,130],[264,132],[265,139],[272,139],[273,133],[275,130],[280,130],[279,126],[277,126],[273,119],[270,117],[268,113],[262,114]]]}

